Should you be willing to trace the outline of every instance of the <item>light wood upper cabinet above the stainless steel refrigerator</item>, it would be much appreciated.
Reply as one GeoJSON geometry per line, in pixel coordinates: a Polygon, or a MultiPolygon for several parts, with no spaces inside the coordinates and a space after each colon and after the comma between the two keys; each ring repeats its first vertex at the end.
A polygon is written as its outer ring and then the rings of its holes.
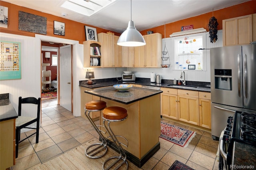
{"type": "Polygon", "coordinates": [[[222,20],[223,46],[244,45],[256,41],[255,18],[256,14],[251,14],[222,20]]]}

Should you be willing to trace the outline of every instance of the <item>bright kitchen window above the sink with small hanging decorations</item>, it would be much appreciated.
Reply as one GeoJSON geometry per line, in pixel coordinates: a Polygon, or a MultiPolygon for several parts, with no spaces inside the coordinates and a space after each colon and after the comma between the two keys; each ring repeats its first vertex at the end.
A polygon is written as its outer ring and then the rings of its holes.
{"type": "Polygon", "coordinates": [[[199,49],[204,46],[204,36],[205,33],[190,34],[174,39],[176,70],[203,70],[203,51],[199,49]]]}

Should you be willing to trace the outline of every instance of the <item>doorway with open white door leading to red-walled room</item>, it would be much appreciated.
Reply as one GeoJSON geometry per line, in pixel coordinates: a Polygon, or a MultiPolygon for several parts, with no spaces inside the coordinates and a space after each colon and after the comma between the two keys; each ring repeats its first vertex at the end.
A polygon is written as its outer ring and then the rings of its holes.
{"type": "Polygon", "coordinates": [[[41,44],[42,75],[48,71],[51,74],[49,78],[42,77],[42,81],[46,79],[49,83],[42,84],[42,103],[60,105],[72,112],[72,45],[55,42],[41,42],[41,44]]]}

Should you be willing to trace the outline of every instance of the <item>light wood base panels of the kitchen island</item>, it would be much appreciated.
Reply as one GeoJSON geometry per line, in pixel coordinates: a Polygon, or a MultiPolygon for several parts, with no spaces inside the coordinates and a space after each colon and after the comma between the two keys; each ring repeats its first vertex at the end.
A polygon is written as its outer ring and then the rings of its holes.
{"type": "MultiPolygon", "coordinates": [[[[160,94],[128,105],[104,98],[101,100],[106,101],[107,107],[119,106],[127,110],[125,121],[110,125],[116,135],[122,135],[128,140],[128,147],[123,147],[124,150],[141,159],[158,144],[161,133],[160,94]]],[[[101,125],[102,121],[100,117],[101,125]]]]}

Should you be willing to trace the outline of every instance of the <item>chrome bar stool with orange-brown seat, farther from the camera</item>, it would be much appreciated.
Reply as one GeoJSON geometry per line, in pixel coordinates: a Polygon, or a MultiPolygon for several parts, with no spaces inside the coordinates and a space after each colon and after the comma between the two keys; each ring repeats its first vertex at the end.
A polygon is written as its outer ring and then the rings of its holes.
{"type": "MultiPolygon", "coordinates": [[[[102,111],[105,108],[106,108],[106,102],[101,101],[101,100],[93,100],[93,101],[90,101],[90,102],[85,104],[84,115],[86,115],[86,117],[88,118],[88,120],[92,124],[92,127],[94,127],[96,132],[99,134],[100,139],[102,140],[101,143],[91,144],[90,146],[88,146],[86,148],[85,155],[88,158],[92,158],[92,159],[100,158],[100,157],[104,156],[107,152],[107,141],[101,133],[103,131],[98,128],[98,127],[104,127],[104,126],[96,125],[94,123],[94,121],[92,121],[92,118],[90,117],[90,112],[102,111]],[[96,145],[98,145],[98,146],[95,147],[96,145]],[[105,149],[105,151],[102,153],[101,151],[104,150],[104,149],[105,149]],[[100,155],[97,154],[99,152],[100,152],[100,155]]],[[[105,134],[106,132],[103,132],[103,133],[105,134]]]]}

